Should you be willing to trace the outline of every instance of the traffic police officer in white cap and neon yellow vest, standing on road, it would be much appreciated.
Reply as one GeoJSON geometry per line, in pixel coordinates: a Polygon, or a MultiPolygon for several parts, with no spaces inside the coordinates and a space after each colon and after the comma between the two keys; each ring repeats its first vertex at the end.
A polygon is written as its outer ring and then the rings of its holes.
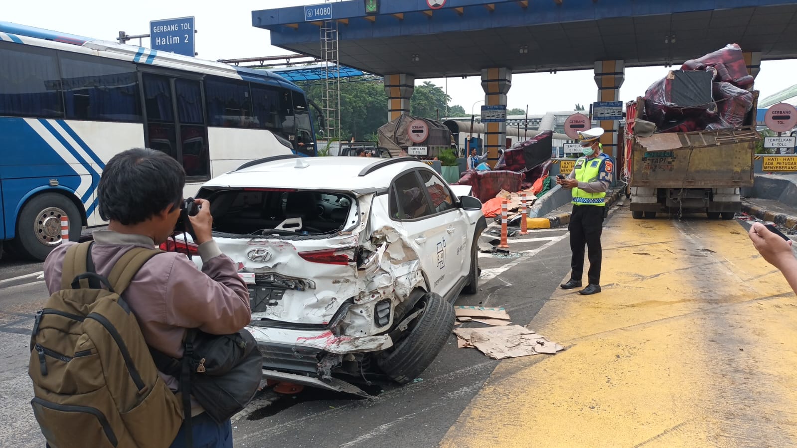
{"type": "Polygon", "coordinates": [[[573,212],[570,215],[570,250],[572,273],[563,289],[581,287],[584,269],[584,245],[589,250],[590,269],[587,272],[587,287],[580,290],[583,295],[600,293],[601,246],[600,235],[606,210],[606,191],[611,183],[614,163],[601,152],[600,136],[602,128],[591,128],[579,132],[583,157],[575,161],[575,166],[567,179],[556,179],[563,188],[572,190],[573,212]]]}

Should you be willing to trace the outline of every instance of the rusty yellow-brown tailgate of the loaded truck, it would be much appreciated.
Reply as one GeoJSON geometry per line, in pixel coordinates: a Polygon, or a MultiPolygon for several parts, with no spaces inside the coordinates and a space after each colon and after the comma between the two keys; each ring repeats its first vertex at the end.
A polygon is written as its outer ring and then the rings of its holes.
{"type": "Polygon", "coordinates": [[[630,187],[752,187],[755,127],[631,138],[630,187]]]}

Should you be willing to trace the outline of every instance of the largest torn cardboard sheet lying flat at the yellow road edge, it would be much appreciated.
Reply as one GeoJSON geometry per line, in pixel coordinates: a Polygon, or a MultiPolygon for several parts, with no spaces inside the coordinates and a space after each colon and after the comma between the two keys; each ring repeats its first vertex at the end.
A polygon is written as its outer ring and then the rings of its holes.
{"type": "Polygon", "coordinates": [[[494,360],[553,354],[564,347],[520,325],[487,328],[456,328],[457,347],[473,347],[494,360]]]}

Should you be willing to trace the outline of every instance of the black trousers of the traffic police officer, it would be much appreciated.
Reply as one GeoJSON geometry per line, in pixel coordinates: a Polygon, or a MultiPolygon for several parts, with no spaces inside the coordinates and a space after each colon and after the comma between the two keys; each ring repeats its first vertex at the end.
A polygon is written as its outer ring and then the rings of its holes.
{"type": "Polygon", "coordinates": [[[581,281],[584,272],[584,246],[589,250],[590,270],[587,279],[590,285],[600,285],[600,262],[602,249],[600,235],[603,232],[603,211],[605,206],[573,206],[570,215],[570,250],[573,253],[570,267],[572,280],[581,281]]]}

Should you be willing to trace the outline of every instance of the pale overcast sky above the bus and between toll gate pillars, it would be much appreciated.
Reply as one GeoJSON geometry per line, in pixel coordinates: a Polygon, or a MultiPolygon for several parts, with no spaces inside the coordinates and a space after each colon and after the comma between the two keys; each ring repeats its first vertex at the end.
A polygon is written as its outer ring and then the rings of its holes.
{"type": "MultiPolygon", "coordinates": [[[[39,0],[37,2],[3,2],[0,20],[22,25],[56,29],[86,37],[115,40],[120,30],[130,35],[148,33],[151,20],[194,16],[198,57],[216,61],[240,57],[261,57],[291,53],[270,45],[269,31],[252,26],[252,11],[320,3],[318,0],[226,0],[224,2],[169,2],[136,0],[105,6],[85,3],[39,0]],[[79,6],[83,5],[83,6],[79,6]]],[[[130,43],[138,44],[136,40],[130,43]]],[[[148,39],[143,45],[149,46],[148,39]]],[[[694,57],[701,57],[695,54],[694,57]]],[[[677,67],[675,67],[677,68],[677,67]]],[[[633,100],[646,88],[664,77],[669,69],[663,66],[626,69],[626,81],[620,89],[621,100],[633,100]]],[[[795,83],[797,61],[764,61],[756,78],[760,98],[795,83]]],[[[426,81],[426,80],[422,80],[426,81]]],[[[422,81],[416,81],[420,84],[422,81]]],[[[460,104],[466,112],[478,113],[484,100],[479,77],[452,77],[428,80],[438,84],[451,96],[451,104],[460,104]]],[[[589,104],[598,93],[592,70],[577,72],[529,73],[512,77],[508,108],[526,108],[529,114],[571,110],[575,103],[589,104]]]]}

